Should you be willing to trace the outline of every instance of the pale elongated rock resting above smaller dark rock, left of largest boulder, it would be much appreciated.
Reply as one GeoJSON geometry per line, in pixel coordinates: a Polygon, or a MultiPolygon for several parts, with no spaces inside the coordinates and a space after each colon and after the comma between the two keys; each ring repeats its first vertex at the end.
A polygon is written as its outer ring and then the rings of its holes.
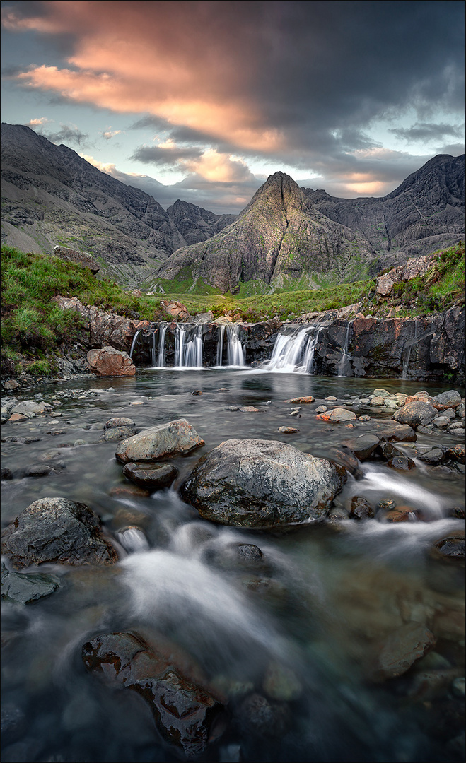
{"type": "Polygon", "coordinates": [[[124,464],[130,461],[157,461],[187,453],[204,444],[186,419],[175,419],[124,439],[118,445],[115,456],[124,464]]]}

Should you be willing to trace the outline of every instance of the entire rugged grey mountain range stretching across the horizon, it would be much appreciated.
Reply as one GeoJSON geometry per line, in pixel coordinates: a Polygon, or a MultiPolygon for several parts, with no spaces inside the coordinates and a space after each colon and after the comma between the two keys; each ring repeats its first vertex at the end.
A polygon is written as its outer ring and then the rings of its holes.
{"type": "Polygon", "coordinates": [[[374,275],[464,236],[464,156],[435,156],[383,198],[334,198],[276,172],[235,215],[167,211],[29,127],[2,124],[2,241],[91,253],[123,285],[180,278],[235,293],[374,275]]]}

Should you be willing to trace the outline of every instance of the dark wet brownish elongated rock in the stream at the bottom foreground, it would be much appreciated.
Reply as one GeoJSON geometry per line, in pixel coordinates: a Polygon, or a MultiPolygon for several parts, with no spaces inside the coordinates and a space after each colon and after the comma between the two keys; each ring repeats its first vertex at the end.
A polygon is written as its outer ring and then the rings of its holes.
{"type": "Polygon", "coordinates": [[[208,745],[212,723],[222,704],[185,678],[167,659],[133,633],[107,633],[83,645],[89,671],[105,676],[143,697],[163,739],[183,750],[188,760],[199,759],[208,745]]]}

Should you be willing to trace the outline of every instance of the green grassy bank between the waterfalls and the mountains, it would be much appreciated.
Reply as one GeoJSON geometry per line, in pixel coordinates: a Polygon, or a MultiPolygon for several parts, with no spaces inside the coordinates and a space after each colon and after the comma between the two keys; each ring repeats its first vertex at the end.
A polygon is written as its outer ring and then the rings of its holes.
{"type": "MultiPolygon", "coordinates": [[[[244,322],[278,315],[281,320],[361,302],[364,313],[419,316],[464,304],[464,242],[442,251],[423,278],[396,284],[390,298],[377,300],[376,281],[339,284],[317,290],[275,291],[241,298],[233,295],[163,294],[137,296],[88,269],[55,256],[23,253],[2,246],[2,368],[44,375],[53,372],[54,353],[86,343],[83,320],[63,311],[52,298],[77,297],[105,311],[141,320],[163,320],[160,301],[176,299],[196,315],[230,314],[244,322]],[[8,359],[8,363],[7,363],[8,359]],[[6,364],[6,365],[5,365],[6,364]]],[[[82,354],[82,353],[81,353],[82,354]]]]}

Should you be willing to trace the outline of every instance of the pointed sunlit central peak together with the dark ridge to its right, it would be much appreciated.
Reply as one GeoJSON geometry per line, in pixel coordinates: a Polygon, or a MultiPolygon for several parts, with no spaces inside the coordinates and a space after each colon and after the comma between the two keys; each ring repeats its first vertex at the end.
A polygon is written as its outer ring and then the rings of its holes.
{"type": "Polygon", "coordinates": [[[462,237],[464,156],[435,156],[383,198],[334,198],[275,172],[235,222],[174,252],[154,285],[200,278],[235,293],[251,282],[351,282],[462,237]]]}

